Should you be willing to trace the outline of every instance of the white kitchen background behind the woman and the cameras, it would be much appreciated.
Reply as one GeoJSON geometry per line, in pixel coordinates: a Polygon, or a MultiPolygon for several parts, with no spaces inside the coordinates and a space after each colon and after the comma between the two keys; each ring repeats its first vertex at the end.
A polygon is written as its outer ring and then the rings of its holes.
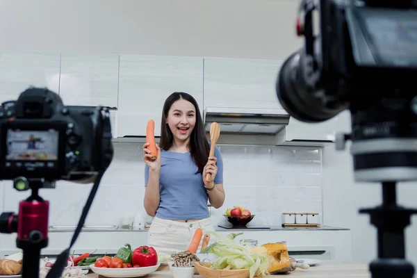
{"type": "MultiPolygon", "coordinates": [[[[259,246],[285,241],[290,256],[320,261],[300,272],[327,261],[365,271],[377,258],[377,230],[359,209],[381,203],[380,183],[354,181],[350,142],[336,150],[336,133],[351,131],[349,111],[309,124],[290,117],[277,98],[279,70],[303,44],[295,28],[299,4],[2,3],[1,102],[17,100],[35,86],[56,92],[67,106],[110,108],[113,161],[71,253],[114,255],[125,243],[147,244],[152,221],[143,206],[147,122],[155,121],[158,142],[163,102],[172,92],[188,92],[197,100],[208,139],[211,122],[220,124],[216,145],[224,161],[225,201],[209,207],[218,234],[243,232],[240,239],[259,246]],[[245,227],[231,227],[224,217],[234,206],[254,215],[245,227]]],[[[415,206],[416,185],[398,184],[399,204],[415,206]]],[[[58,256],[70,245],[91,189],[92,183],[70,181],[40,189],[50,202],[49,244],[42,256],[58,256]]],[[[13,181],[1,181],[0,212],[17,213],[29,195],[13,181]]],[[[406,258],[417,265],[415,220],[405,230],[405,246],[406,258]]],[[[0,234],[0,259],[19,252],[16,236],[0,234]]]]}

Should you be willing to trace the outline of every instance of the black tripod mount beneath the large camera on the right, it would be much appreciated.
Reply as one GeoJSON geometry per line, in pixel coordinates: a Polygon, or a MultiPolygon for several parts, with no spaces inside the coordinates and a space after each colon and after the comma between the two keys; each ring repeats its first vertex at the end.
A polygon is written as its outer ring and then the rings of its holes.
{"type": "Polygon", "coordinates": [[[378,231],[378,259],[369,265],[373,278],[414,277],[414,266],[405,259],[404,229],[417,210],[403,208],[396,202],[395,181],[383,182],[382,204],[359,210],[370,215],[370,223],[378,231]]]}

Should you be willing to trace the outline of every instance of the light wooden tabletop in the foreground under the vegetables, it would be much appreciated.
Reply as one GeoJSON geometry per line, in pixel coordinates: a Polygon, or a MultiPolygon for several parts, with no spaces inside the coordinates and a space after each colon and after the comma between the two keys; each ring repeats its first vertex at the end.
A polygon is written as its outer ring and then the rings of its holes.
{"type": "MultiPolygon", "coordinates": [[[[274,275],[279,277],[279,275],[274,275]]],[[[174,276],[168,270],[157,271],[147,278],[173,278],[174,276]]],[[[200,275],[194,275],[194,277],[202,277],[200,275]]],[[[303,270],[297,268],[297,270],[291,272],[291,278],[370,278],[370,272],[368,265],[362,263],[352,262],[340,262],[340,261],[322,261],[322,263],[312,266],[309,269],[303,270]]],[[[85,275],[85,278],[101,278],[101,276],[90,273],[85,275]]]]}

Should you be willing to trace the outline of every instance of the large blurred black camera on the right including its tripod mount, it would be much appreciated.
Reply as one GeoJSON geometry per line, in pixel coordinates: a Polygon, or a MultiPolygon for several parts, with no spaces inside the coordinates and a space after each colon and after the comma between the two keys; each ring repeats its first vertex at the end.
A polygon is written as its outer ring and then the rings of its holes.
{"type": "Polygon", "coordinates": [[[417,180],[417,1],[304,0],[304,47],[282,65],[277,97],[302,122],[349,110],[355,181],[382,183],[383,202],[361,209],[378,230],[373,277],[413,277],[404,229],[414,209],[396,204],[395,183],[417,180]]]}

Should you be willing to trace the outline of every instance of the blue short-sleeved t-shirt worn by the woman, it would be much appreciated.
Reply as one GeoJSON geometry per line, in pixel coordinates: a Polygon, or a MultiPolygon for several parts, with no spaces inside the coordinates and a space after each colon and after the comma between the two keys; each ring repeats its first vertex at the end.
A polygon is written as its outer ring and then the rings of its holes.
{"type": "MultiPolygon", "coordinates": [[[[214,183],[223,183],[223,160],[220,149],[215,147],[218,172],[214,183]]],[[[204,188],[202,174],[195,174],[198,168],[190,152],[179,153],[161,149],[161,172],[159,194],[161,202],[156,217],[167,220],[188,220],[208,218],[208,194],[204,188]]],[[[145,186],[149,179],[149,167],[145,164],[145,186]]]]}

